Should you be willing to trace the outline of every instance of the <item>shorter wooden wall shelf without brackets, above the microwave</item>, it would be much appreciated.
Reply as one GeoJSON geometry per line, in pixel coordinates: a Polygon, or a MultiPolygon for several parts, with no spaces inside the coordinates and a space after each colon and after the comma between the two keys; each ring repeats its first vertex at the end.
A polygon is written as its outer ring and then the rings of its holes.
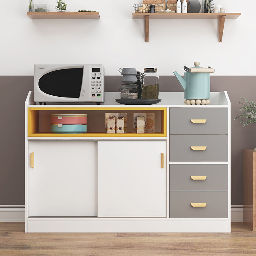
{"type": "Polygon", "coordinates": [[[27,12],[31,20],[100,20],[99,12],[27,12]]]}

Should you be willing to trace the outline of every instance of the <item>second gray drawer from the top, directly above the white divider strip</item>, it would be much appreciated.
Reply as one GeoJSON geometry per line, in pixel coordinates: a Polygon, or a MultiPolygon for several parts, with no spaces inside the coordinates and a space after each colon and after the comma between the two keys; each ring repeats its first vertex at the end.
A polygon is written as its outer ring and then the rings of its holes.
{"type": "Polygon", "coordinates": [[[228,161],[228,135],[170,135],[170,161],[228,161]]]}

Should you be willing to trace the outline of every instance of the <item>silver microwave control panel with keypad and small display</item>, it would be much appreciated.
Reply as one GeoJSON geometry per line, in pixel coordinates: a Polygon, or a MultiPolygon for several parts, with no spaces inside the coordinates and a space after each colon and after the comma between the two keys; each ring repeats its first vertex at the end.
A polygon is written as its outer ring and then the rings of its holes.
{"type": "Polygon", "coordinates": [[[90,101],[104,102],[104,67],[102,65],[91,65],[90,85],[90,101]]]}

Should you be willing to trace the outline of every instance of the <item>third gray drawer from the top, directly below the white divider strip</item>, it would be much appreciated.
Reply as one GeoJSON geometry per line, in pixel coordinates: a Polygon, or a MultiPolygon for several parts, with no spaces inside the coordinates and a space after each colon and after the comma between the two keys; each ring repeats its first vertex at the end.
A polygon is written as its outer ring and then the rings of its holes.
{"type": "Polygon", "coordinates": [[[170,191],[228,191],[228,165],[170,164],[170,191]]]}

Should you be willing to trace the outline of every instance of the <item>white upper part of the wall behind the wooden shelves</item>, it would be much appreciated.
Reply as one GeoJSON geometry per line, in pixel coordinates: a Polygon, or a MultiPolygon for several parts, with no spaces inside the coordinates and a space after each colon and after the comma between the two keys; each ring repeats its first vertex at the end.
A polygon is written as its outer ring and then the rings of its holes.
{"type": "MultiPolygon", "coordinates": [[[[226,12],[241,12],[225,21],[221,43],[218,20],[150,20],[145,42],[145,21],[132,20],[134,0],[66,0],[67,11],[97,11],[100,20],[31,20],[28,0],[1,2],[1,76],[33,75],[34,64],[52,63],[100,63],[107,76],[123,67],[156,67],[170,76],[194,61],[215,68],[215,76],[256,75],[255,8],[246,1],[215,0],[226,12]]],[[[55,11],[57,0],[33,2],[55,11]]]]}

